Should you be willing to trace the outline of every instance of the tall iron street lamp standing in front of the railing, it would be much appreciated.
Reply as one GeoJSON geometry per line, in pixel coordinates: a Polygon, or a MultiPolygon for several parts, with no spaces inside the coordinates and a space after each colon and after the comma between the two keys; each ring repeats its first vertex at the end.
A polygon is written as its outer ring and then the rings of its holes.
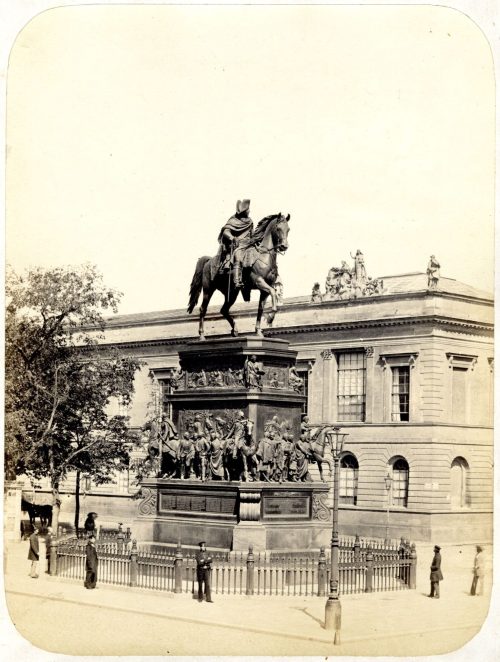
{"type": "Polygon", "coordinates": [[[334,644],[340,644],[340,626],[342,620],[342,608],[339,599],[339,475],[340,456],[344,447],[347,433],[340,432],[340,428],[334,427],[326,433],[330,443],[333,457],[333,522],[332,522],[332,544],[330,549],[330,593],[325,605],[325,630],[334,630],[334,644]]]}

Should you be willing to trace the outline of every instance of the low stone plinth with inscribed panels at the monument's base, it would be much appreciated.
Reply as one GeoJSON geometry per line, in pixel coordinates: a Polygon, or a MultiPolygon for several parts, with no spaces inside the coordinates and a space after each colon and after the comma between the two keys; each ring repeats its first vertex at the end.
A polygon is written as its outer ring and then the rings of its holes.
{"type": "Polygon", "coordinates": [[[133,524],[150,542],[245,550],[309,549],[328,545],[328,486],[147,479],[133,524]]]}

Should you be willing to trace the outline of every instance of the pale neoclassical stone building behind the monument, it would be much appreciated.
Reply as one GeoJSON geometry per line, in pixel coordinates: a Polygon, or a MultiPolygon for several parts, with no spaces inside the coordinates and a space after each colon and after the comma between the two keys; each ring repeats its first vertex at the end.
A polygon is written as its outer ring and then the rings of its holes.
{"type": "MultiPolygon", "coordinates": [[[[330,274],[329,274],[330,278],[330,274]]],[[[328,283],[328,281],[327,281],[328,283]]],[[[311,423],[347,433],[341,457],[341,533],[417,541],[492,539],[493,298],[424,273],[383,278],[354,291],[285,299],[272,329],[297,352],[311,423]],[[314,300],[313,300],[314,299],[314,300]]],[[[233,309],[250,334],[256,303],[233,309]]],[[[141,428],[169,411],[178,350],[197,339],[196,311],[120,315],[106,343],[144,361],[128,411],[141,428]]],[[[206,333],[228,325],[209,310],[206,333]]],[[[312,474],[318,480],[317,471],[312,474]]],[[[328,472],[326,473],[328,475],[328,472]]],[[[131,475],[84,487],[83,508],[131,522],[131,475]]],[[[71,510],[72,481],[64,512],[71,510]]],[[[71,518],[68,518],[68,521],[71,518]]]]}

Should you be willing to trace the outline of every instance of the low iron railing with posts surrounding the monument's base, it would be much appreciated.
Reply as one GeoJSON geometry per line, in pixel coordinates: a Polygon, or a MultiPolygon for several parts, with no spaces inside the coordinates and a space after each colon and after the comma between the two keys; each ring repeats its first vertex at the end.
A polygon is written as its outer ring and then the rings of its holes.
{"type": "MultiPolygon", "coordinates": [[[[155,591],[195,593],[196,557],[178,545],[175,553],[167,549],[153,553],[138,549],[136,541],[98,542],[98,578],[105,584],[137,586],[155,591]]],[[[340,594],[395,591],[415,588],[417,553],[415,545],[396,553],[387,549],[375,552],[369,545],[359,554],[340,555],[340,594]]],[[[85,541],[73,538],[59,542],[54,571],[60,577],[83,580],[85,541]]],[[[52,564],[51,564],[52,568],[52,564]]],[[[220,595],[326,596],[330,588],[330,560],[319,552],[297,557],[230,552],[212,555],[212,592],[220,595]]]]}

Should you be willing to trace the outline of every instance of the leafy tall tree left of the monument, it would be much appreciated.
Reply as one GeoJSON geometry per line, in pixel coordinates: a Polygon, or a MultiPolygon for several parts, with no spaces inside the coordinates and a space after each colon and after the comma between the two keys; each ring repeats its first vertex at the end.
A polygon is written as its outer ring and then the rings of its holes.
{"type": "Polygon", "coordinates": [[[92,265],[7,274],[5,468],[48,477],[53,525],[70,471],[106,482],[128,461],[127,406],[139,362],[99,347],[120,293],[92,265]]]}

